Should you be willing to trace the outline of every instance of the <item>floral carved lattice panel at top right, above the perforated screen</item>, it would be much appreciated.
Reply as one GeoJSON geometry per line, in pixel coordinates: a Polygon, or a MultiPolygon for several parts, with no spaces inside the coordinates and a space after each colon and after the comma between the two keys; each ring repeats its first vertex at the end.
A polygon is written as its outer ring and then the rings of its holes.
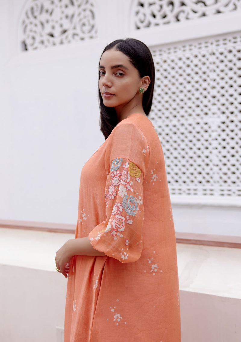
{"type": "Polygon", "coordinates": [[[240,9],[240,0],[136,0],[133,25],[138,30],[240,9]]]}

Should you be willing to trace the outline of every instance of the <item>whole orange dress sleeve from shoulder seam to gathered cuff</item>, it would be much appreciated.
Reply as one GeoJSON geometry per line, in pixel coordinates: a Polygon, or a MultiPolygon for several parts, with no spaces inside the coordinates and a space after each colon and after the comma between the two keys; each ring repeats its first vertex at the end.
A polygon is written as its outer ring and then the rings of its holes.
{"type": "Polygon", "coordinates": [[[89,239],[95,249],[109,257],[134,262],[140,258],[143,248],[142,185],[148,163],[148,145],[135,125],[125,124],[116,131],[110,139],[106,156],[106,220],[89,233],[89,239]],[[131,148],[126,149],[125,145],[131,148]]]}

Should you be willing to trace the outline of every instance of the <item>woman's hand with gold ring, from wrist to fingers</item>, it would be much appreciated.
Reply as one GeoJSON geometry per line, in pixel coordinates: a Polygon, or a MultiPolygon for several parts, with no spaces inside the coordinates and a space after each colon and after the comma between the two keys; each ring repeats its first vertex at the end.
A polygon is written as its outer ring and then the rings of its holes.
{"type": "Polygon", "coordinates": [[[57,252],[55,257],[56,267],[67,278],[70,261],[73,257],[71,252],[71,240],[68,240],[57,252]]]}

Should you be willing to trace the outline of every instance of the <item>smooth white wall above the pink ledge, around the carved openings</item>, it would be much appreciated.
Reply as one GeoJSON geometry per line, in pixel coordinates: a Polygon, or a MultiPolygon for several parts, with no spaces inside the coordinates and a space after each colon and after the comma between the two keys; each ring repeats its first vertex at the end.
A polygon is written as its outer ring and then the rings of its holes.
{"type": "MultiPolygon", "coordinates": [[[[98,39],[22,52],[26,3],[0,2],[0,219],[75,224],[81,169],[104,141],[97,67],[105,45],[132,36],[151,47],[240,30],[240,12],[227,13],[225,25],[217,15],[134,31],[134,2],[95,1],[98,39]]],[[[240,235],[237,200],[172,203],[176,231],[240,235]]]]}

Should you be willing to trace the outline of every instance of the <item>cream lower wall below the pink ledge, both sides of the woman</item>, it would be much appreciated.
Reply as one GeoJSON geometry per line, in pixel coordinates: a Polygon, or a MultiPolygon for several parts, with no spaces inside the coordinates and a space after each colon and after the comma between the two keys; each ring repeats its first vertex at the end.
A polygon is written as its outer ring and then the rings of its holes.
{"type": "MultiPolygon", "coordinates": [[[[54,257],[73,237],[0,228],[1,342],[61,342],[67,280],[54,257]]],[[[177,256],[182,342],[240,342],[241,250],[178,244],[177,256]]]]}

